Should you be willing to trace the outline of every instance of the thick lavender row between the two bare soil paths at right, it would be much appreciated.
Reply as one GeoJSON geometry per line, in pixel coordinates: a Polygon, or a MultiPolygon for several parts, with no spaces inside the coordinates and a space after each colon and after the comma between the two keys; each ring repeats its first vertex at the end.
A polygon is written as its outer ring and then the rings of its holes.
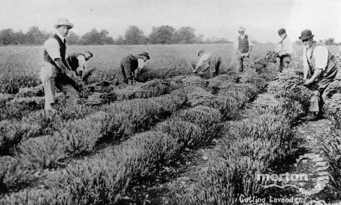
{"type": "MultiPolygon", "coordinates": [[[[268,83],[265,79],[256,79],[262,77],[252,71],[249,76],[242,76],[241,82],[253,84],[259,92],[264,91],[268,83]]],[[[232,123],[222,137],[220,156],[223,161],[212,163],[201,191],[186,197],[185,204],[239,204],[240,194],[262,197],[264,190],[258,186],[255,174],[267,172],[275,161],[278,163],[295,151],[292,126],[303,111],[305,98],[279,95],[282,90],[277,88],[293,87],[294,82],[277,79],[269,84],[267,93],[254,101],[249,117],[232,123]]],[[[298,89],[302,93],[309,91],[303,86],[298,89]]]]}

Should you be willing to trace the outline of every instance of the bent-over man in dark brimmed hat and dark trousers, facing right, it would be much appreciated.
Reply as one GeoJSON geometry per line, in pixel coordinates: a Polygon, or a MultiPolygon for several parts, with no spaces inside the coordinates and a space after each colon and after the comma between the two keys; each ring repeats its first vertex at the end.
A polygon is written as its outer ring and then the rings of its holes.
{"type": "Polygon", "coordinates": [[[142,69],[147,59],[150,59],[148,53],[142,52],[139,55],[129,54],[127,57],[122,58],[121,71],[123,75],[123,82],[128,85],[133,84],[133,75],[138,77],[138,69],[142,69]]]}

